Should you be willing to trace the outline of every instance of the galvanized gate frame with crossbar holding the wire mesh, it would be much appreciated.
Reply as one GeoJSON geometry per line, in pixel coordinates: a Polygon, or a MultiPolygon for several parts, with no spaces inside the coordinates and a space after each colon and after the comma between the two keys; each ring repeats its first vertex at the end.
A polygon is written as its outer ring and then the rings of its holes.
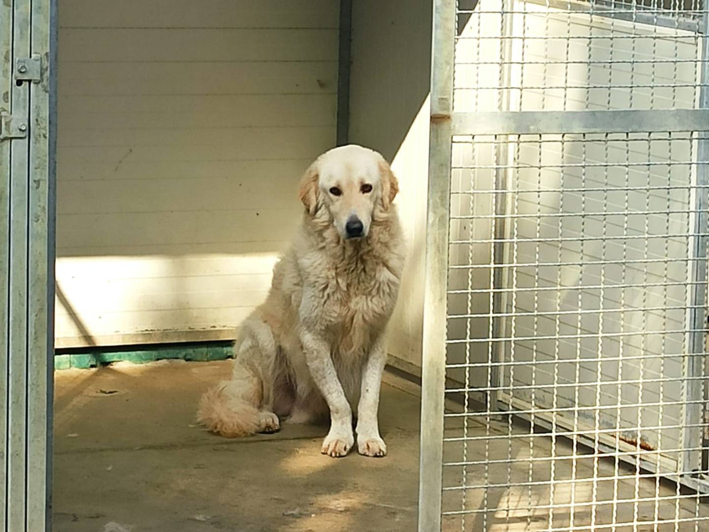
{"type": "MultiPolygon", "coordinates": [[[[707,131],[709,123],[709,16],[700,25],[702,72],[699,109],[623,110],[623,111],[486,111],[453,112],[454,43],[456,35],[456,1],[434,0],[430,153],[428,180],[428,233],[426,235],[425,303],[423,309],[423,362],[421,393],[419,532],[440,531],[443,413],[445,404],[445,358],[447,321],[448,240],[450,216],[450,179],[452,138],[454,135],[524,135],[540,133],[642,133],[648,131],[685,132],[707,131]]],[[[709,140],[698,140],[698,159],[709,160],[709,140]]],[[[706,279],[708,228],[709,167],[697,165],[696,186],[693,187],[694,216],[691,246],[692,279],[706,279]]],[[[694,283],[688,312],[688,350],[703,353],[706,330],[706,286],[694,283]],[[701,310],[700,310],[701,309],[701,310]]],[[[706,358],[706,357],[705,357],[706,358]]],[[[709,361],[692,357],[688,377],[709,375],[709,361]],[[708,366],[705,370],[705,364],[708,366]]],[[[499,377],[498,377],[499,378],[499,377]]],[[[688,380],[687,394],[702,393],[698,378],[688,380]]],[[[709,387],[705,387],[709,388],[709,387]]],[[[705,393],[709,390],[705,389],[705,393]]],[[[707,397],[706,399],[709,399],[707,397]]],[[[706,406],[706,405],[705,405],[706,406]]],[[[685,422],[691,441],[706,445],[703,434],[706,411],[700,404],[686,409],[685,422]]],[[[709,457],[686,453],[683,471],[709,457]]],[[[709,479],[687,475],[683,483],[695,489],[708,490],[709,479]]]]}

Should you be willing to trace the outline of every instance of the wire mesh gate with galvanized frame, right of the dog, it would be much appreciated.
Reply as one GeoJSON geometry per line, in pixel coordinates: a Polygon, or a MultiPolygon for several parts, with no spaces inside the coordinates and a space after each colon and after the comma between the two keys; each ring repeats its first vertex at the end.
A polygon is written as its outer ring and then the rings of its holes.
{"type": "Polygon", "coordinates": [[[709,527],[705,0],[436,0],[419,530],[709,527]]]}

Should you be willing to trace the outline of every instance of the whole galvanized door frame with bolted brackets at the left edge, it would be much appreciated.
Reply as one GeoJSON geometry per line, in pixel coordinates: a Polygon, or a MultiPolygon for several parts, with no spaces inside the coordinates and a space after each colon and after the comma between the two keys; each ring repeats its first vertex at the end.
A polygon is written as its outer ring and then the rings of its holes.
{"type": "Polygon", "coordinates": [[[50,531],[56,0],[0,4],[0,523],[50,531]]]}

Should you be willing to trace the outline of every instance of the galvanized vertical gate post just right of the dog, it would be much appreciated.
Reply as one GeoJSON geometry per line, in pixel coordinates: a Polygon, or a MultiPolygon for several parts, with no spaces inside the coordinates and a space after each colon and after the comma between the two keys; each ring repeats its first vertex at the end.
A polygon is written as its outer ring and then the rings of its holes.
{"type": "Polygon", "coordinates": [[[435,0],[421,371],[419,532],[440,531],[441,528],[454,45],[455,1],[435,0]]]}

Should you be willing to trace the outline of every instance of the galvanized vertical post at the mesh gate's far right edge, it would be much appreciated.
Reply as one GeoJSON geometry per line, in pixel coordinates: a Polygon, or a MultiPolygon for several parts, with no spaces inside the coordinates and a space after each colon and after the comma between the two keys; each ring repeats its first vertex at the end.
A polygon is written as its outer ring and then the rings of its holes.
{"type": "MultiPolygon", "coordinates": [[[[700,27],[701,55],[700,55],[700,86],[699,101],[700,109],[709,109],[709,12],[707,2],[704,2],[704,14],[700,27]]],[[[709,228],[709,131],[698,131],[696,160],[696,182],[692,189],[690,199],[690,209],[693,214],[691,221],[692,243],[689,251],[691,260],[690,297],[688,301],[688,358],[685,401],[692,401],[687,405],[685,417],[687,449],[681,470],[685,475],[691,474],[700,468],[706,467],[708,463],[707,445],[708,439],[705,434],[705,414],[707,411],[706,402],[709,399],[709,386],[705,382],[707,378],[707,367],[709,362],[703,355],[705,353],[706,322],[706,290],[707,290],[707,230],[709,228]],[[701,404],[704,399],[705,404],[701,404]]]]}

